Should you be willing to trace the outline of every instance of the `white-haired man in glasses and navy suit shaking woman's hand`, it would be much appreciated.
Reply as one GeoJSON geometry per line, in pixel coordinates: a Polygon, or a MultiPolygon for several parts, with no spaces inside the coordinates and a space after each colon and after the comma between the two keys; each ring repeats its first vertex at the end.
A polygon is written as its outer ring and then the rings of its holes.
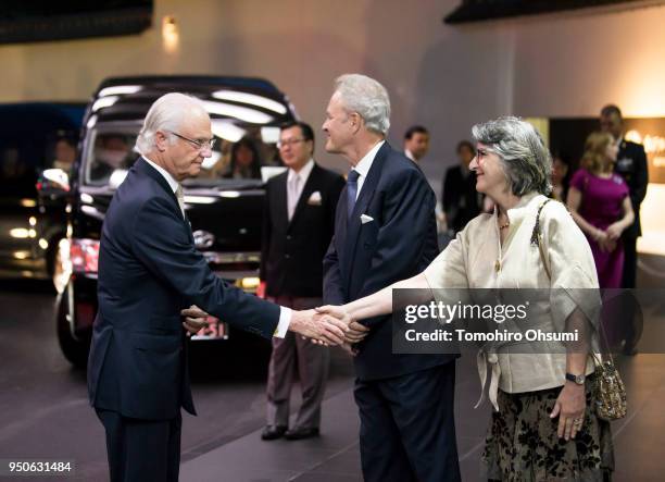
{"type": "MultiPolygon", "coordinates": [[[[176,481],[180,407],[196,415],[180,310],[196,304],[271,338],[287,330],[326,343],[339,326],[227,285],[195,248],[180,182],[196,176],[214,139],[195,98],[167,94],[150,108],[137,139],[142,157],[106,212],[99,254],[99,311],[88,366],[90,403],[106,432],[112,481],[176,481]]],[[[340,323],[340,326],[342,324],[340,323]]]]}

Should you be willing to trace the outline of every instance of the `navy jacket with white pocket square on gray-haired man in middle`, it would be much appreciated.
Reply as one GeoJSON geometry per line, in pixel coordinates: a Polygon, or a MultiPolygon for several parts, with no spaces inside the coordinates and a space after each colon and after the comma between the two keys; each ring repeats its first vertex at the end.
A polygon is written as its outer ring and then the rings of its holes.
{"type": "MultiPolygon", "coordinates": [[[[438,255],[436,197],[417,164],[386,143],[376,155],[347,222],[347,191],[324,259],[324,302],[341,305],[422,272],[438,255]],[[361,223],[361,214],[374,221],[361,223]]],[[[364,320],[369,335],[354,357],[361,380],[412,373],[448,355],[392,355],[390,317],[364,320]]]]}

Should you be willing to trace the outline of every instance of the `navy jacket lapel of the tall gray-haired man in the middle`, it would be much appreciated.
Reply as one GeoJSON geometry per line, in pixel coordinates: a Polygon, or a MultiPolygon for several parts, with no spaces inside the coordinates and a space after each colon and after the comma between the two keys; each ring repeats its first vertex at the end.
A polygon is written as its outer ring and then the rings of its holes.
{"type": "MultiPolygon", "coordinates": [[[[351,283],[351,271],[353,269],[353,259],[355,257],[355,250],[357,249],[359,236],[361,234],[361,215],[366,212],[369,202],[374,198],[374,193],[376,187],[378,186],[378,182],[381,177],[381,171],[384,166],[384,161],[390,151],[390,146],[388,143],[384,144],[381,148],[376,153],[374,161],[372,162],[372,168],[369,168],[369,172],[367,173],[367,178],[363,183],[363,187],[360,191],[357,200],[355,201],[355,206],[353,207],[353,212],[351,213],[351,219],[348,220],[347,223],[347,238],[344,240],[346,247],[346,256],[344,256],[344,272],[347,273],[347,286],[350,286],[351,283]]],[[[343,193],[346,199],[346,191],[343,193]]],[[[347,202],[344,201],[344,208],[347,207],[347,202]]],[[[347,210],[344,209],[343,212],[347,210]]],[[[346,218],[346,217],[344,217],[346,218]]]]}

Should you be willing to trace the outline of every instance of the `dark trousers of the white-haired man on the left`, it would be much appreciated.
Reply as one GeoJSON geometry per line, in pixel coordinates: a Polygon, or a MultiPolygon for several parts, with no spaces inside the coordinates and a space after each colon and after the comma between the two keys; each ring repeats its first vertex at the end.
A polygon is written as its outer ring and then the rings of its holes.
{"type": "Polygon", "coordinates": [[[180,470],[178,413],[171,420],[141,420],[97,409],[106,431],[111,482],[177,482],[180,470]]]}

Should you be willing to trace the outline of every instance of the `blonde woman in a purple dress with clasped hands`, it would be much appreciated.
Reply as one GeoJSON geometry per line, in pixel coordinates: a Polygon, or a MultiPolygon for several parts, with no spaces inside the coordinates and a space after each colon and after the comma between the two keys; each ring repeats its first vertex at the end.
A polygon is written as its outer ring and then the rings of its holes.
{"type": "Polygon", "coordinates": [[[618,288],[624,270],[620,235],[635,214],[628,186],[614,173],[618,146],[607,133],[592,133],[581,169],[570,180],[567,205],[591,245],[601,288],[618,288]]]}

